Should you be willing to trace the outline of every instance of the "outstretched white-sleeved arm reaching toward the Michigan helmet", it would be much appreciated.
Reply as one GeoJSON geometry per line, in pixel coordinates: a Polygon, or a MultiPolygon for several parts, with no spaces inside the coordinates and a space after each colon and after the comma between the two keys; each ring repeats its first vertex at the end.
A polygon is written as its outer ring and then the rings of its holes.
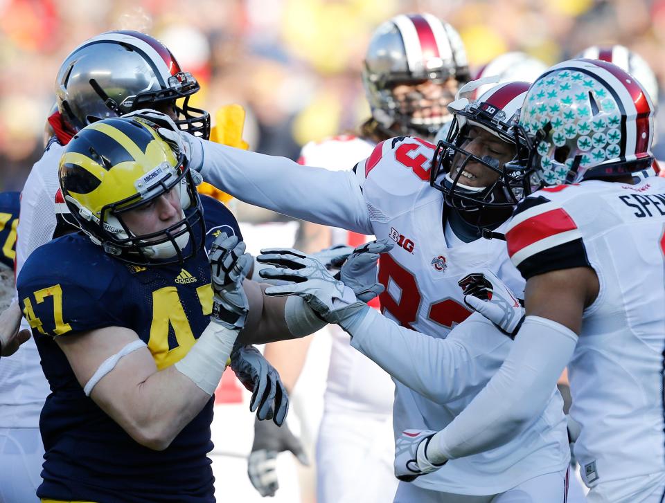
{"type": "Polygon", "coordinates": [[[302,166],[285,157],[206,140],[196,140],[193,146],[193,165],[203,163],[204,179],[240,201],[314,223],[372,233],[352,172],[302,166]]]}

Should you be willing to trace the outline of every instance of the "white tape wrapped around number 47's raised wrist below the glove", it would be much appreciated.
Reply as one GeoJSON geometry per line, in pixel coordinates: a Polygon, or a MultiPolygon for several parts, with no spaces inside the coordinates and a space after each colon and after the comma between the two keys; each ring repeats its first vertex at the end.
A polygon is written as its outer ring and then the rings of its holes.
{"type": "Polygon", "coordinates": [[[174,366],[178,372],[213,396],[224,369],[227,368],[227,360],[237,337],[238,330],[227,329],[222,324],[211,321],[195,345],[174,366]]]}

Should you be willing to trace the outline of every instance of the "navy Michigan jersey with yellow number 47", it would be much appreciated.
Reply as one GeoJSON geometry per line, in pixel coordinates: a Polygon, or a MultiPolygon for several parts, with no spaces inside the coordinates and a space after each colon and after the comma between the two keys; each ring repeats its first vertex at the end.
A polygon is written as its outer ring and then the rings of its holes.
{"type": "MultiPolygon", "coordinates": [[[[206,246],[223,230],[240,238],[231,212],[202,197],[206,246]]],[[[183,358],[209,323],[210,266],[201,251],[182,264],[134,266],[82,233],[57,238],[28,258],[17,282],[51,386],[39,427],[39,497],[95,502],[212,502],[213,399],[161,452],[136,443],[85,396],[55,337],[103,327],[134,330],[158,369],[183,358]]]]}

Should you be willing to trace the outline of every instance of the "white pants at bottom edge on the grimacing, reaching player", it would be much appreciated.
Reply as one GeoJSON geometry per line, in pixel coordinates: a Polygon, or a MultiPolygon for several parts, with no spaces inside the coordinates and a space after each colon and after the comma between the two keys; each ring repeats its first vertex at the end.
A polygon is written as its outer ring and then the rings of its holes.
{"type": "Polygon", "coordinates": [[[470,496],[439,493],[400,482],[393,503],[565,503],[568,470],[547,473],[526,480],[505,493],[470,496]]]}

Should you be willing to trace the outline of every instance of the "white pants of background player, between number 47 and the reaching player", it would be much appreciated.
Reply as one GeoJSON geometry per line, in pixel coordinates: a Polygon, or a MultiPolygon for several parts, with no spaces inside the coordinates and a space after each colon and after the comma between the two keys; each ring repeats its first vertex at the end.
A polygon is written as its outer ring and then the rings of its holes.
{"type": "Polygon", "coordinates": [[[395,496],[391,414],[323,414],[317,441],[318,503],[384,503],[395,496]]]}

